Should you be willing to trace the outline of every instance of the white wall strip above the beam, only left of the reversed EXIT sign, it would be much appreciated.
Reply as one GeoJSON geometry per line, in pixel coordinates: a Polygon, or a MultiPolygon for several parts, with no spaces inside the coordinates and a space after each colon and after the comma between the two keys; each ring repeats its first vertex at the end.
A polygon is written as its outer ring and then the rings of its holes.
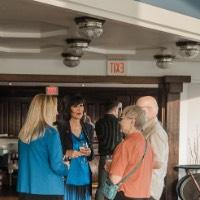
{"type": "Polygon", "coordinates": [[[74,68],[65,67],[60,59],[0,59],[0,73],[56,74],[56,75],[105,75],[104,60],[81,61],[74,68]]]}

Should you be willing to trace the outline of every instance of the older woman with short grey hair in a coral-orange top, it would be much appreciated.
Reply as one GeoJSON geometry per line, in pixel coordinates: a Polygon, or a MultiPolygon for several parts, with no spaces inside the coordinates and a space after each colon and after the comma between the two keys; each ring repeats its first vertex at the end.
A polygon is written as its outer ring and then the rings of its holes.
{"type": "Polygon", "coordinates": [[[134,105],[124,108],[120,127],[125,134],[125,139],[114,151],[109,170],[110,180],[117,184],[141,161],[144,154],[145,156],[137,170],[120,185],[115,200],[150,198],[153,151],[142,134],[145,123],[145,112],[140,107],[134,105]],[[144,153],[145,149],[146,153],[144,153]]]}

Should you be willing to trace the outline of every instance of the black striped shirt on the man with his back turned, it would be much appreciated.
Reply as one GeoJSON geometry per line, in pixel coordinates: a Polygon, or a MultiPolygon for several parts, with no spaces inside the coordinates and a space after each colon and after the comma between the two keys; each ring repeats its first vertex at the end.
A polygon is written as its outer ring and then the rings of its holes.
{"type": "Polygon", "coordinates": [[[112,155],[115,147],[122,141],[118,119],[112,114],[105,114],[95,124],[99,141],[99,154],[112,155]]]}

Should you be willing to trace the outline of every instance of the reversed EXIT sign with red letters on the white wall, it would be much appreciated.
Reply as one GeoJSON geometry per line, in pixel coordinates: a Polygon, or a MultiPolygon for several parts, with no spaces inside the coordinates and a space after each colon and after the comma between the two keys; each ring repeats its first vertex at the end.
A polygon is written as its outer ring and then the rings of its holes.
{"type": "Polygon", "coordinates": [[[125,60],[108,60],[107,74],[111,76],[127,75],[127,61],[125,60]]]}

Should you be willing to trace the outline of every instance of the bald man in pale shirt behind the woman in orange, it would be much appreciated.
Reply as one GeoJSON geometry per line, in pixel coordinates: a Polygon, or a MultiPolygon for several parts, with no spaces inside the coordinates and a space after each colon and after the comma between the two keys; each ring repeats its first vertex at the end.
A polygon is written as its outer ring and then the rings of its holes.
{"type": "Polygon", "coordinates": [[[154,97],[140,97],[136,105],[140,106],[147,116],[147,123],[144,127],[144,135],[151,143],[154,151],[154,160],[159,169],[154,169],[151,181],[151,199],[159,200],[163,188],[164,178],[167,173],[167,162],[169,154],[168,136],[162,125],[157,119],[158,104],[154,97]]]}

